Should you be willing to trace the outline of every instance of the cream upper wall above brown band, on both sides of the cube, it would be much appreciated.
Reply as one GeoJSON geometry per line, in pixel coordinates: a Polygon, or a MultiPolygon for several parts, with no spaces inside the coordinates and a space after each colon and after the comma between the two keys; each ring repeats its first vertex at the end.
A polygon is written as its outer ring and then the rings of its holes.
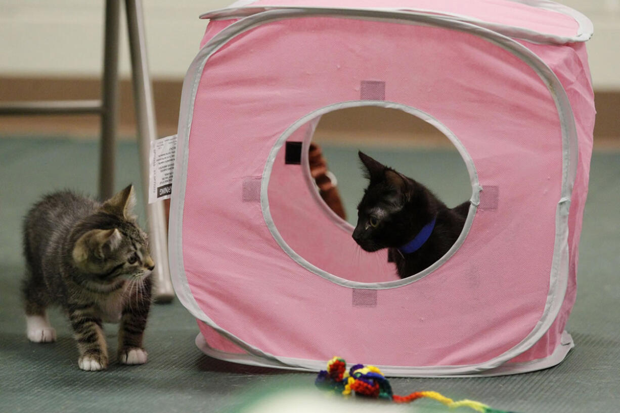
{"type": "MultiPolygon", "coordinates": [[[[181,79],[205,28],[198,15],[228,0],[144,1],[151,72],[181,79]]],[[[595,24],[588,42],[595,88],[620,90],[620,0],[562,0],[595,24]]],[[[103,1],[0,0],[0,77],[95,77],[102,61],[103,1]]],[[[124,22],[124,15],[123,15],[124,22]]],[[[126,39],[123,27],[122,39],[126,39]]],[[[121,71],[128,76],[126,41],[121,71]]]]}

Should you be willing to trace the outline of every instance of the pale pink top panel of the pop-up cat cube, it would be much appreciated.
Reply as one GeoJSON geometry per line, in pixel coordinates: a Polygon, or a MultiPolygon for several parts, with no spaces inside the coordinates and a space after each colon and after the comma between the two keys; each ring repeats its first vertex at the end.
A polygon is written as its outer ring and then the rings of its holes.
{"type": "Polygon", "coordinates": [[[249,6],[300,6],[401,9],[464,15],[484,22],[527,28],[540,33],[574,36],[579,24],[565,14],[506,0],[260,0],[249,6]]]}

